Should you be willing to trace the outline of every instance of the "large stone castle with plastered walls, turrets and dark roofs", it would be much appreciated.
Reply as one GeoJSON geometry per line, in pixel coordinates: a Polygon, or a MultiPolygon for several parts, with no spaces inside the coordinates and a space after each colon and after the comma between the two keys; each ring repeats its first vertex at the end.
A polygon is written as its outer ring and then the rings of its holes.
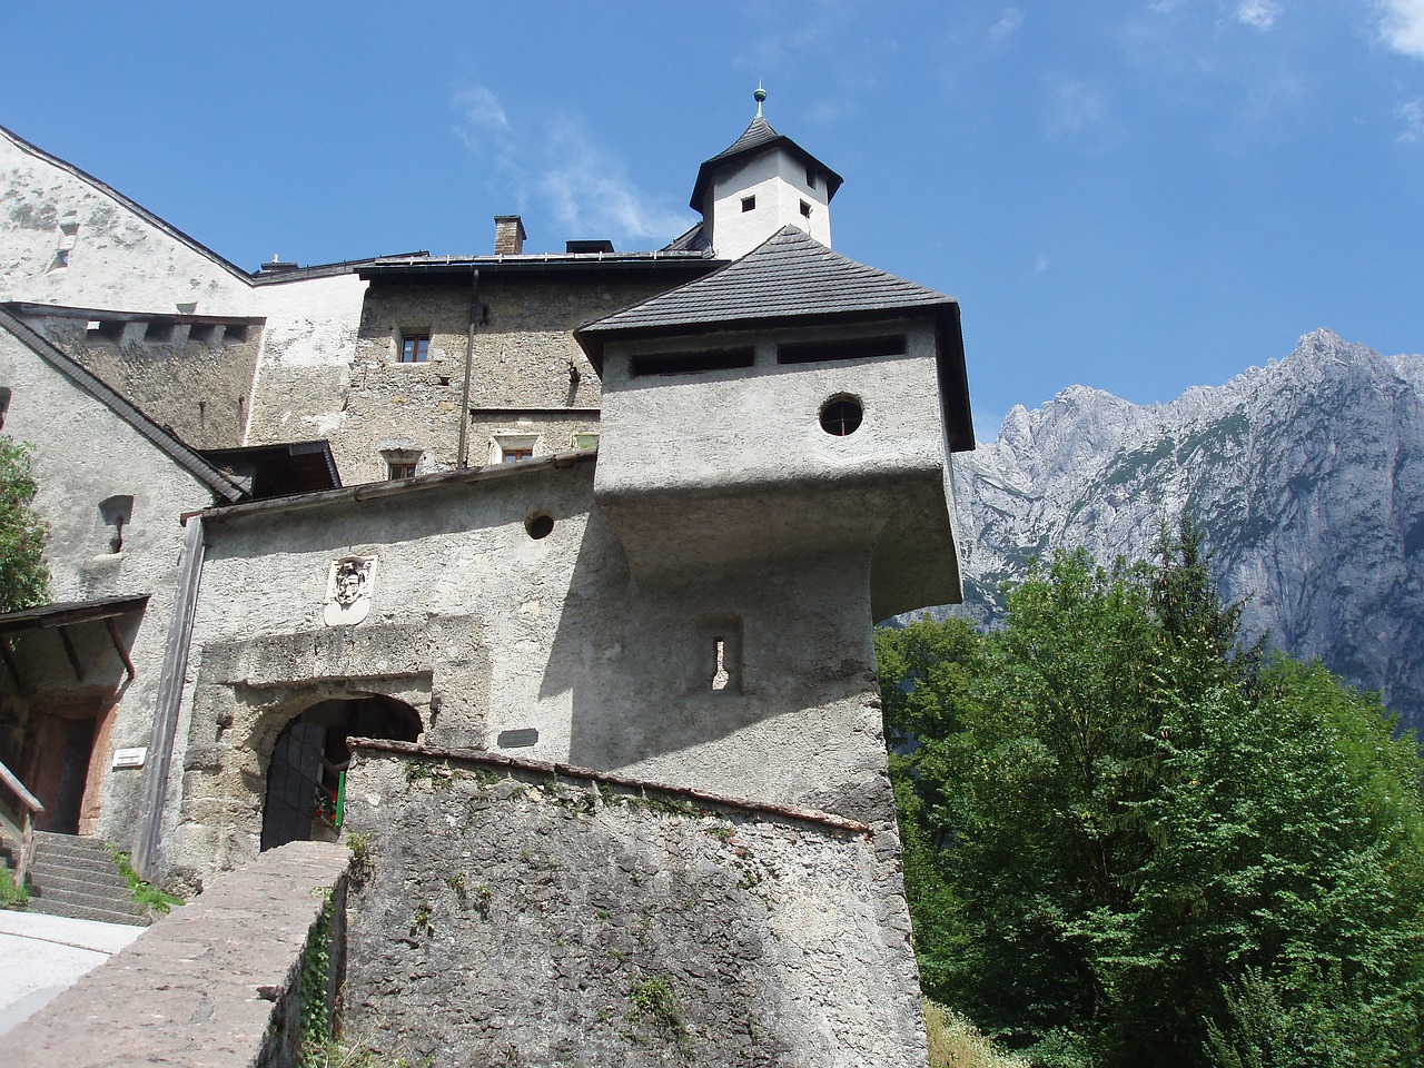
{"type": "Polygon", "coordinates": [[[893,869],[871,624],[958,600],[973,429],[957,303],[832,251],[840,182],[759,95],[662,249],[497,216],[249,273],[0,130],[54,595],[0,615],[0,762],[41,826],[198,887],[335,836],[363,736],[827,813],[893,869]]]}

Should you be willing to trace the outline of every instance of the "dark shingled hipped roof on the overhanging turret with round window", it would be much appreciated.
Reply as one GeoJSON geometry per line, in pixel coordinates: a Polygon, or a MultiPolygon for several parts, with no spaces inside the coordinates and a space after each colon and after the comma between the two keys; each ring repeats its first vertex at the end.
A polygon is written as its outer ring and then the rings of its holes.
{"type": "Polygon", "coordinates": [[[713,330],[823,322],[873,322],[903,315],[933,316],[938,333],[938,377],[950,446],[974,447],[958,302],[938,292],[833,252],[795,225],[782,226],[740,259],[577,330],[594,367],[617,339],[678,337],[713,330]]]}

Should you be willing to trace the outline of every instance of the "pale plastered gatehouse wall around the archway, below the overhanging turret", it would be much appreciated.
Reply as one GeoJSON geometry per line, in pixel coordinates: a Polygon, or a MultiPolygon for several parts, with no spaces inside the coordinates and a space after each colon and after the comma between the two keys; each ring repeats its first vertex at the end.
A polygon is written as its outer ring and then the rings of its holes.
{"type": "Polygon", "coordinates": [[[645,588],[591,460],[209,520],[208,540],[167,816],[179,870],[249,859],[281,728],[366,692],[414,708],[433,745],[537,731],[518,755],[890,819],[864,550],[645,588]],[[553,533],[531,538],[534,514],[553,533]],[[379,557],[370,614],[326,627],[332,561],[356,554],[379,557]]]}

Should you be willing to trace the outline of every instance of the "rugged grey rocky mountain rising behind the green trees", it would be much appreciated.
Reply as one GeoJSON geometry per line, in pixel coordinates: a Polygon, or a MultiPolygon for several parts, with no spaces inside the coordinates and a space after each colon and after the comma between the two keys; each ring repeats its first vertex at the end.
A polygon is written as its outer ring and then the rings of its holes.
{"type": "Polygon", "coordinates": [[[957,457],[956,493],[957,614],[993,622],[1000,584],[1057,548],[1145,558],[1190,501],[1247,634],[1424,726],[1424,356],[1316,330],[1168,404],[1072,386],[957,457]]]}

